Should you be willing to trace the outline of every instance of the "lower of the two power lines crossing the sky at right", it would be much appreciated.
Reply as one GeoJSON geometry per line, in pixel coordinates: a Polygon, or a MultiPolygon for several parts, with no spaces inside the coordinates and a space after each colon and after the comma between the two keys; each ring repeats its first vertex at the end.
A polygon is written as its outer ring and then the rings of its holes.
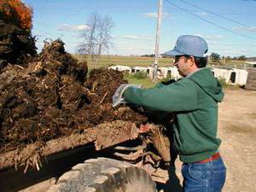
{"type": "Polygon", "coordinates": [[[233,33],[233,34],[239,35],[239,36],[244,37],[244,38],[251,38],[251,39],[253,39],[253,40],[256,40],[256,38],[253,38],[253,37],[251,37],[251,36],[244,35],[244,34],[239,33],[239,32],[234,32],[234,31],[232,31],[232,30],[230,30],[230,29],[228,29],[228,28],[226,28],[226,27],[224,27],[224,26],[218,26],[216,23],[214,23],[214,22],[212,22],[212,21],[210,21],[210,20],[206,20],[206,19],[202,18],[202,17],[199,16],[199,15],[195,15],[194,13],[190,12],[190,11],[187,10],[187,9],[181,8],[181,7],[178,6],[176,3],[171,3],[171,2],[168,1],[168,0],[166,0],[166,3],[170,3],[170,4],[174,5],[175,7],[177,7],[177,9],[181,9],[181,10],[183,10],[184,12],[187,12],[187,13],[189,13],[190,15],[193,15],[193,16],[197,17],[197,18],[200,19],[200,20],[204,20],[204,21],[206,21],[207,23],[212,24],[212,26],[216,26],[216,27],[218,27],[218,28],[220,28],[220,29],[223,29],[223,30],[225,30],[225,31],[227,31],[227,32],[231,32],[231,33],[233,33]]]}

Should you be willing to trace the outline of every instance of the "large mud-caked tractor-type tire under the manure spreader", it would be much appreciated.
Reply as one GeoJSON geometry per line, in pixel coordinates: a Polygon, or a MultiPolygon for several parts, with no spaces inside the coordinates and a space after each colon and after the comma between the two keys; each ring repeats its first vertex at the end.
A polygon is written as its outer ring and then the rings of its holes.
{"type": "Polygon", "coordinates": [[[64,173],[48,192],[157,192],[143,169],[131,164],[97,158],[85,160],[64,173]]]}

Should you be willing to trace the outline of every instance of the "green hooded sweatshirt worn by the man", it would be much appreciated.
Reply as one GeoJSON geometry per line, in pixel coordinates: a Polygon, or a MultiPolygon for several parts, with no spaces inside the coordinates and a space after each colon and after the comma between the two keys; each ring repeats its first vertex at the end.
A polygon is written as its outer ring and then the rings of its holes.
{"type": "Polygon", "coordinates": [[[205,160],[218,150],[218,102],[222,102],[224,93],[210,68],[151,89],[131,86],[123,96],[127,102],[176,114],[173,139],[184,163],[205,160]]]}

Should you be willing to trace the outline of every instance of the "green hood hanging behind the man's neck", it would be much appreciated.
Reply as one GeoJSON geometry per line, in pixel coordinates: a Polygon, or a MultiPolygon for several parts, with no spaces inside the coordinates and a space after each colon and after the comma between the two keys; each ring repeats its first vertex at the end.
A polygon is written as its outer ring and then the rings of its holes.
{"type": "Polygon", "coordinates": [[[222,91],[222,85],[214,78],[210,68],[202,68],[191,74],[188,79],[198,84],[216,102],[223,101],[224,92],[222,91]]]}

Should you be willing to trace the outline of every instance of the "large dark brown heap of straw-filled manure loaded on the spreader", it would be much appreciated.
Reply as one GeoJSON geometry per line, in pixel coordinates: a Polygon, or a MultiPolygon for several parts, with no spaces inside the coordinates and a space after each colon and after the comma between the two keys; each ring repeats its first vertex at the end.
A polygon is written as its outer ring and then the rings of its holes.
{"type": "Polygon", "coordinates": [[[113,108],[123,74],[92,70],[79,63],[57,39],[46,42],[27,66],[7,65],[0,73],[0,152],[83,132],[119,119],[147,121],[131,108],[113,108]],[[81,128],[83,127],[83,128],[81,128]]]}

